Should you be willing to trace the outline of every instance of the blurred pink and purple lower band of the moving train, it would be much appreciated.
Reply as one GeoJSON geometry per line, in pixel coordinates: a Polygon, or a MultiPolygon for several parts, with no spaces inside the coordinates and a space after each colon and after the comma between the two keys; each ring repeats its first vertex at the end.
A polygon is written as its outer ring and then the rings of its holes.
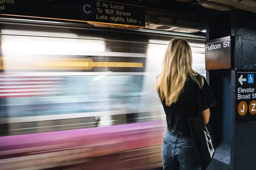
{"type": "Polygon", "coordinates": [[[134,159],[137,165],[150,166],[145,164],[150,159],[161,161],[165,128],[162,121],[154,121],[6,136],[0,143],[0,166],[3,170],[39,166],[44,169],[56,164],[76,167],[81,162],[79,166],[86,169],[117,170],[133,167],[134,159]]]}

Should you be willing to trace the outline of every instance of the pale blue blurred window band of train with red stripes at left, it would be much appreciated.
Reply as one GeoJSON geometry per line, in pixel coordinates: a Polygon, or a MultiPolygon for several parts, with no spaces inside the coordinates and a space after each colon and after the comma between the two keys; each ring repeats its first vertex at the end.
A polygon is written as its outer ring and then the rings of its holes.
{"type": "MultiPolygon", "coordinates": [[[[6,81],[31,83],[24,85],[23,90],[19,88],[2,90],[6,92],[1,93],[0,96],[6,99],[9,118],[148,107],[146,101],[141,101],[144,94],[142,93],[143,76],[140,75],[17,77],[6,81]],[[37,83],[39,80],[42,82],[37,83]]],[[[8,88],[7,83],[0,84],[8,88]]]]}

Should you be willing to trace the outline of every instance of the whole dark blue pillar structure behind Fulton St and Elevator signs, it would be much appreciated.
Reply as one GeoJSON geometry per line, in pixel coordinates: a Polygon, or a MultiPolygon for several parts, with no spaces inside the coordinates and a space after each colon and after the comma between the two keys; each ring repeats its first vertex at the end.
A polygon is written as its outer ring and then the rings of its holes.
{"type": "Polygon", "coordinates": [[[209,167],[212,170],[256,169],[256,122],[235,122],[235,69],[256,69],[255,18],[255,13],[233,10],[210,19],[208,23],[207,40],[230,35],[234,39],[231,68],[207,71],[207,80],[218,103],[211,110],[211,125],[219,144],[209,167]]]}

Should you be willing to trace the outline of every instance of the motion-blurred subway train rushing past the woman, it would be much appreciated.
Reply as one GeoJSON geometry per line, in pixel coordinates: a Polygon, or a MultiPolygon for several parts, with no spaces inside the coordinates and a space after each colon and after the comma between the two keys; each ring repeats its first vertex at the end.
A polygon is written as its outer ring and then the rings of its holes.
{"type": "Polygon", "coordinates": [[[166,123],[155,80],[166,45],[187,40],[205,76],[204,37],[18,24],[0,31],[2,169],[161,167],[166,123]]]}

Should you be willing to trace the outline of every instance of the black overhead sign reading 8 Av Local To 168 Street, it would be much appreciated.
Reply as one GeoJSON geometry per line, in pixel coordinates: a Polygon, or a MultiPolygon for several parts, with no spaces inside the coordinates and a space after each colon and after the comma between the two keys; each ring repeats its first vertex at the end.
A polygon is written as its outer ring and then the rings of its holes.
{"type": "Polygon", "coordinates": [[[104,0],[0,0],[0,14],[145,27],[145,7],[104,0]]]}

